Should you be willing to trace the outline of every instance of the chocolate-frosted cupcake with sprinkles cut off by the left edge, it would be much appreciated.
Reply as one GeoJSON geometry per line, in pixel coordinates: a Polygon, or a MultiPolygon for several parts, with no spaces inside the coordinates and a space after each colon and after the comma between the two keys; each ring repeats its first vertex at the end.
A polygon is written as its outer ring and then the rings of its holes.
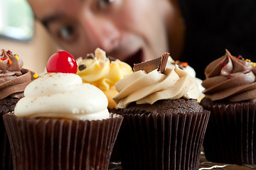
{"type": "Polygon", "coordinates": [[[37,74],[23,69],[18,55],[8,50],[0,51],[0,169],[13,169],[9,140],[4,128],[2,116],[14,111],[14,107],[23,97],[25,87],[37,74]]]}

